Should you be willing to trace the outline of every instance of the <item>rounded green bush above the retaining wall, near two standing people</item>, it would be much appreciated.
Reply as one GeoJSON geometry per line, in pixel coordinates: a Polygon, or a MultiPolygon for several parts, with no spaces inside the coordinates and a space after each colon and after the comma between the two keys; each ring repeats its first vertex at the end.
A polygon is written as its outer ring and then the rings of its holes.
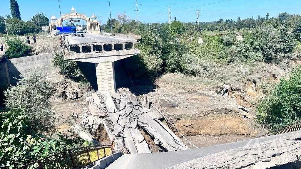
{"type": "Polygon", "coordinates": [[[8,45],[5,54],[8,58],[18,58],[32,55],[32,47],[25,44],[21,38],[12,37],[5,40],[8,45]]]}

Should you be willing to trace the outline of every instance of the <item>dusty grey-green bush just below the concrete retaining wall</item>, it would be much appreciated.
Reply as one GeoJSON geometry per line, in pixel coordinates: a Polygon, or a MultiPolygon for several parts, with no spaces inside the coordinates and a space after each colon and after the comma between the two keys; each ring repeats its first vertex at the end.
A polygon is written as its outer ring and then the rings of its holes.
{"type": "Polygon", "coordinates": [[[32,72],[21,78],[16,86],[4,92],[6,108],[23,108],[33,131],[48,131],[53,127],[54,112],[50,109],[49,98],[53,93],[45,78],[32,72]]]}

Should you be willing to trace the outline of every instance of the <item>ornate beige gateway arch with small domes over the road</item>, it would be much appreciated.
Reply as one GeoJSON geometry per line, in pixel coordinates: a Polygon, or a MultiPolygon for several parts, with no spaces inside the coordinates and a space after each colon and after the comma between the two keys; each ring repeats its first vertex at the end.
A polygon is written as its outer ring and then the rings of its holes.
{"type": "Polygon", "coordinates": [[[72,6],[69,14],[62,15],[62,18],[56,18],[54,15],[50,18],[49,28],[51,34],[57,32],[57,26],[62,26],[63,21],[68,19],[82,19],[87,21],[87,32],[88,33],[98,33],[99,22],[97,21],[97,17],[92,14],[91,17],[87,17],[85,14],[77,13],[76,9],[72,6]]]}

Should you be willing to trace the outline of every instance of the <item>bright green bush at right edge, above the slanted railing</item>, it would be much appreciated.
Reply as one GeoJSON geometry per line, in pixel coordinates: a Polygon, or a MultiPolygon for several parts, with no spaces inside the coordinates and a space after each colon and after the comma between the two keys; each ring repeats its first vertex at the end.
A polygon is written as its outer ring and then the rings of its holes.
{"type": "Polygon", "coordinates": [[[301,119],[301,66],[289,79],[281,79],[272,94],[257,106],[256,119],[267,128],[277,129],[301,119]]]}

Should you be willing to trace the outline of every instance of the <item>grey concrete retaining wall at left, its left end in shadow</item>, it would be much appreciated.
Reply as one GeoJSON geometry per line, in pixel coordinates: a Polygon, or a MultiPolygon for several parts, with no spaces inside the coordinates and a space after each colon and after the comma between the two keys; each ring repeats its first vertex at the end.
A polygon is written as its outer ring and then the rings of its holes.
{"type": "Polygon", "coordinates": [[[51,63],[54,54],[55,52],[14,59],[2,59],[0,62],[0,86],[16,84],[17,79],[15,78],[20,78],[20,75],[26,77],[31,71],[37,71],[46,76],[58,72],[58,69],[52,67],[51,63]]]}

